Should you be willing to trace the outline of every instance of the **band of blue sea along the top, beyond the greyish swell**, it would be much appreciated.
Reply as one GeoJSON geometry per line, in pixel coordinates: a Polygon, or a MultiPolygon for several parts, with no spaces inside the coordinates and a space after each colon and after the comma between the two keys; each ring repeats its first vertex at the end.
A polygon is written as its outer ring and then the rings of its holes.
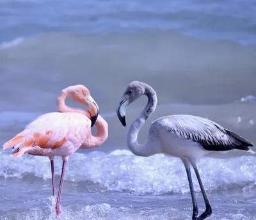
{"type": "Polygon", "coordinates": [[[218,1],[72,1],[58,14],[49,8],[58,3],[35,0],[1,1],[4,36],[29,35],[47,31],[109,33],[142,29],[179,29],[199,38],[232,40],[255,45],[255,2],[218,1]],[[84,14],[83,8],[87,13],[84,14]],[[37,17],[29,17],[35,13],[37,17]],[[26,14],[26,18],[22,17],[26,14]],[[15,19],[20,17],[21,19],[15,19]],[[43,19],[44,18],[44,19],[43,19]],[[33,19],[33,22],[29,22],[33,19]]]}

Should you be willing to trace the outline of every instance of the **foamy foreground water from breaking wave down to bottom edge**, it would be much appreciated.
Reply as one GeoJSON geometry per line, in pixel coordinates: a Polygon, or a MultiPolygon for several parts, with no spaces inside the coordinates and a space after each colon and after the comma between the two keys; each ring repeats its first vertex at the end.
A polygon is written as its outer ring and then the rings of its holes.
{"type": "MultiPolygon", "coordinates": [[[[55,219],[48,159],[28,155],[10,162],[8,153],[1,158],[1,219],[55,219]]],[[[61,160],[55,164],[58,182],[61,160]]],[[[214,210],[211,219],[256,217],[254,157],[205,158],[199,167],[214,210]]],[[[195,190],[200,192],[198,184],[195,190]]],[[[203,211],[202,195],[196,196],[203,211]]],[[[75,153],[68,161],[63,212],[58,218],[191,219],[190,200],[179,159],[136,157],[127,150],[75,153]],[[90,166],[81,166],[83,162],[90,166]]]]}

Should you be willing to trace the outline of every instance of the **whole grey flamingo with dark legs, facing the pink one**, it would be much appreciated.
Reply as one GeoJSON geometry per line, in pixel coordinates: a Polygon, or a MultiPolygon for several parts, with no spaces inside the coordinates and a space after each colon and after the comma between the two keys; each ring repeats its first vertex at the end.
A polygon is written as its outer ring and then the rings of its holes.
{"type": "Polygon", "coordinates": [[[249,148],[253,144],[216,122],[188,114],[163,116],[154,120],[150,126],[147,141],[140,144],[138,143],[138,133],[157,106],[156,91],[146,83],[134,81],[127,86],[116,109],[120,122],[126,126],[125,114],[127,107],[142,95],[147,95],[148,104],[129,128],[127,146],[132,153],[142,157],[149,157],[156,153],[166,153],[179,157],[184,163],[188,176],[193,203],[192,219],[202,220],[211,216],[211,204],[205,192],[196,163],[205,154],[213,151],[224,152],[235,149],[255,153],[249,148]],[[195,170],[196,178],[205,201],[205,211],[200,216],[198,216],[198,206],[190,166],[193,166],[195,170]]]}

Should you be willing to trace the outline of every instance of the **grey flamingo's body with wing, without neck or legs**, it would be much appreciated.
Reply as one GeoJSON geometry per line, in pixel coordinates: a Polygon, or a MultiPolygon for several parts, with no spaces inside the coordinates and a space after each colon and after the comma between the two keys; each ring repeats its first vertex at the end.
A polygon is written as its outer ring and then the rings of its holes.
{"type": "Polygon", "coordinates": [[[156,153],[162,152],[198,161],[211,151],[246,150],[253,146],[246,139],[207,118],[173,114],[157,118],[149,130],[150,143],[156,153]]]}

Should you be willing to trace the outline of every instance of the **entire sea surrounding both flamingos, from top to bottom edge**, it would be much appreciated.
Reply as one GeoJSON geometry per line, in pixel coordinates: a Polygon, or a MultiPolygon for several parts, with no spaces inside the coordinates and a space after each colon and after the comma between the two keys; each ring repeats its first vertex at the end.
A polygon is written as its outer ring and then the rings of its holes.
{"type": "MultiPolygon", "coordinates": [[[[256,143],[255,7],[241,0],[1,1],[0,144],[56,111],[57,95],[73,84],[90,89],[109,124],[102,146],[70,157],[57,219],[191,219],[182,162],[132,155],[115,108],[127,84],[139,80],[158,98],[140,143],[150,122],[168,114],[203,116],[256,143]]],[[[146,103],[131,104],[128,127],[146,103]]],[[[10,153],[0,152],[0,219],[56,219],[49,160],[10,153]]],[[[60,158],[55,165],[58,187],[60,158]]],[[[212,153],[198,168],[209,219],[256,219],[253,155],[212,153]]]]}

